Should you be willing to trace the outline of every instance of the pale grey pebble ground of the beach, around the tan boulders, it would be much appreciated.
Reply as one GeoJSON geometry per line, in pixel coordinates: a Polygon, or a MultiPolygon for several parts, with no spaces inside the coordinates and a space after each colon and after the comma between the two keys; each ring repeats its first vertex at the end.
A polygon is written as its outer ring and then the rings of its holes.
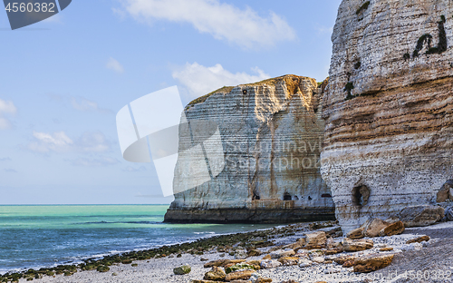
{"type": "MultiPolygon", "coordinates": [[[[225,246],[216,240],[211,240],[211,246],[205,240],[192,243],[191,247],[205,247],[204,251],[195,249],[178,250],[169,255],[154,256],[151,259],[130,260],[130,263],[114,262],[109,265],[108,270],[99,272],[97,270],[82,270],[76,268],[75,272],[38,275],[33,278],[35,282],[203,282],[205,274],[211,268],[205,268],[209,262],[220,259],[238,259],[238,253],[246,250],[250,243],[265,243],[264,246],[255,248],[259,256],[250,256],[244,259],[246,262],[261,262],[263,260],[278,262],[279,252],[287,252],[288,245],[294,245],[307,233],[325,232],[331,235],[331,243],[341,242],[344,238],[339,236],[339,227],[331,222],[320,222],[315,224],[293,224],[281,226],[275,229],[265,229],[257,233],[243,233],[241,235],[226,235],[222,239],[232,239],[225,246]],[[263,240],[263,235],[265,240],[263,240]],[[236,241],[236,244],[231,244],[236,241]],[[205,242],[203,242],[205,241],[205,242]],[[272,244],[270,244],[272,243],[272,244]],[[286,247],[285,247],[286,246],[286,247]],[[275,259],[268,259],[272,256],[275,259]],[[184,275],[174,274],[174,268],[188,265],[190,272],[184,275]]],[[[451,239],[453,237],[453,222],[443,222],[425,228],[406,229],[403,234],[390,237],[376,237],[371,239],[373,247],[354,252],[342,252],[339,254],[327,255],[322,249],[295,249],[290,255],[298,257],[296,264],[280,264],[275,267],[258,268],[254,273],[261,278],[258,282],[452,282],[451,261],[453,249],[451,239]],[[424,240],[407,244],[410,239],[419,239],[428,236],[424,240]],[[367,255],[393,255],[393,260],[386,268],[370,272],[354,272],[352,267],[344,267],[335,259],[339,257],[363,257],[367,255]],[[424,265],[417,263],[418,259],[425,257],[424,265]],[[426,258],[428,257],[428,258],[426,258]],[[428,259],[428,260],[427,260],[428,259]],[[304,264],[309,262],[308,264],[304,264]],[[435,267],[432,267],[435,265],[435,267]],[[427,269],[428,268],[428,269],[427,269]],[[426,270],[425,270],[426,269],[426,270]],[[413,271],[413,272],[411,272],[413,271]],[[417,273],[420,271],[419,273],[417,273]],[[436,277],[436,278],[435,278],[436,277]],[[267,281],[265,281],[267,280],[267,281]]],[[[263,246],[263,245],[261,245],[263,246]]],[[[293,246],[294,247],[294,246],[293,246]]],[[[240,256],[239,256],[240,258],[240,256]]],[[[281,260],[280,260],[281,261],[281,260]]],[[[20,278],[19,282],[31,281],[32,278],[20,278]]],[[[209,282],[209,281],[206,281],[209,282]]],[[[231,282],[253,282],[252,280],[232,280],[231,282]]]]}

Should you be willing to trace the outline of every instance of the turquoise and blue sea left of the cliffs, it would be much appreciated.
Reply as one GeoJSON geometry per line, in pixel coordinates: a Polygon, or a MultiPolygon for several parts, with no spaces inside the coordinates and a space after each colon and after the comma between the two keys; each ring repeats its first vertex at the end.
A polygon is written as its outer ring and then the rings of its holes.
{"type": "Polygon", "coordinates": [[[270,225],[167,224],[168,205],[0,206],[0,273],[270,225]]]}

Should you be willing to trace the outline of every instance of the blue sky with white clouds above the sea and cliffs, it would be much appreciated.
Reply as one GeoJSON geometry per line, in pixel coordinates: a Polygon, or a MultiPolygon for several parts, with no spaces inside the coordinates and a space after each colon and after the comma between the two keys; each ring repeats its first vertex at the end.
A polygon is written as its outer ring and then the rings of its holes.
{"type": "Polygon", "coordinates": [[[121,157],[116,113],[288,73],[322,82],[340,0],[72,1],[12,31],[0,11],[0,205],[169,203],[121,157]]]}

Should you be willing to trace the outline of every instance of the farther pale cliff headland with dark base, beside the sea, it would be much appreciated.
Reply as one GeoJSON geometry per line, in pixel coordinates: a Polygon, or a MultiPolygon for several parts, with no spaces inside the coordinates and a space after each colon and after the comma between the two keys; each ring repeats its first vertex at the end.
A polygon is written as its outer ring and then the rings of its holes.
{"type": "MultiPolygon", "coordinates": [[[[195,177],[183,173],[188,166],[180,155],[174,190],[182,192],[175,194],[165,221],[333,219],[331,191],[319,171],[321,93],[315,80],[286,75],[189,104],[185,111],[189,123],[217,124],[224,151],[217,155],[224,154],[226,164],[211,181],[191,189],[188,184],[195,177]]],[[[183,140],[180,137],[180,145],[183,140]]]]}

